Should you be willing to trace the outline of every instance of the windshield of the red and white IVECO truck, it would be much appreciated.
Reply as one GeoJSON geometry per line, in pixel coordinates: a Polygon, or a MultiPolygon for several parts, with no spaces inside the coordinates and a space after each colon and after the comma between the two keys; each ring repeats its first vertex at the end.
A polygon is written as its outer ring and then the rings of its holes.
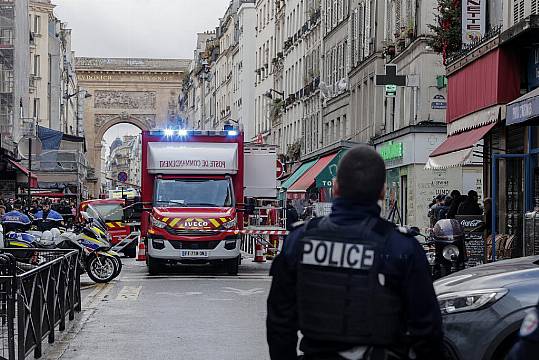
{"type": "Polygon", "coordinates": [[[160,179],[155,185],[154,200],[156,206],[233,206],[229,179],[160,179]]]}

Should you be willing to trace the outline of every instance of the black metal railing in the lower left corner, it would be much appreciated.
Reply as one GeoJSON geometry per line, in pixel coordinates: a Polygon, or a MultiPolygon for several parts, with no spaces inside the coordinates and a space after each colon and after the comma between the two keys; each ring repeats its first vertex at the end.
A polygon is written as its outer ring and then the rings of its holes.
{"type": "Polygon", "coordinates": [[[79,254],[0,249],[0,359],[42,355],[81,310],[79,254]],[[38,265],[34,265],[38,264],[38,265]]]}

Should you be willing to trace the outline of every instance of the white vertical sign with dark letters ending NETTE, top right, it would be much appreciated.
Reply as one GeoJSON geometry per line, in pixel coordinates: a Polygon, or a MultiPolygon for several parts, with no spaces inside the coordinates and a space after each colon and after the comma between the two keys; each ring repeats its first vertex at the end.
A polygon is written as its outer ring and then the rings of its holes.
{"type": "Polygon", "coordinates": [[[462,45],[478,41],[485,35],[487,0],[462,1],[462,45]]]}

